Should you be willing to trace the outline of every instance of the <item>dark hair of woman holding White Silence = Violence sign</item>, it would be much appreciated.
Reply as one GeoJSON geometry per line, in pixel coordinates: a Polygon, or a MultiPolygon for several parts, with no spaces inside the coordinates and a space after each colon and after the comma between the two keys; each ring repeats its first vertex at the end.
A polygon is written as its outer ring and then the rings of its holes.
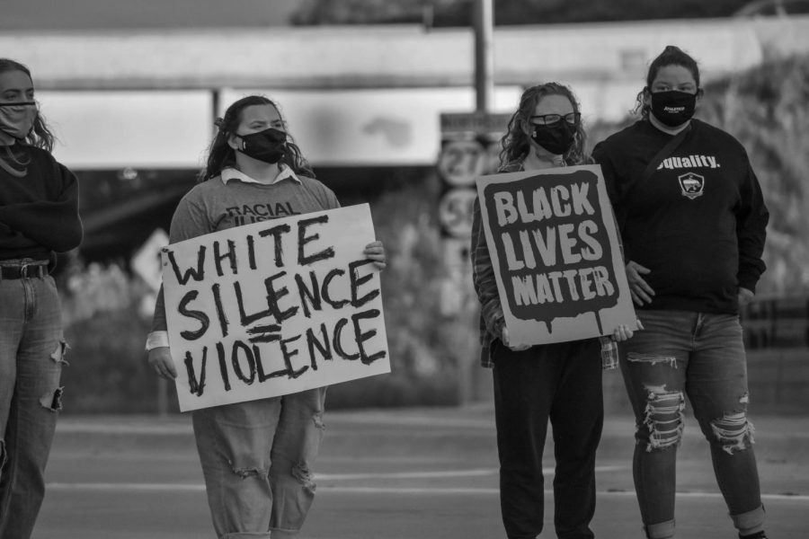
{"type": "MultiPolygon", "coordinates": [[[[227,144],[227,137],[236,133],[236,129],[242,121],[242,110],[253,105],[271,105],[275,110],[279,110],[278,105],[263,95],[248,95],[227,107],[225,116],[214,122],[218,127],[217,134],[210,143],[208,161],[205,169],[200,172],[199,181],[215,178],[222,173],[222,169],[236,165],[236,151],[227,144]]],[[[287,152],[284,153],[280,163],[289,166],[296,174],[315,177],[315,172],[289,133],[287,133],[287,152]]]]}

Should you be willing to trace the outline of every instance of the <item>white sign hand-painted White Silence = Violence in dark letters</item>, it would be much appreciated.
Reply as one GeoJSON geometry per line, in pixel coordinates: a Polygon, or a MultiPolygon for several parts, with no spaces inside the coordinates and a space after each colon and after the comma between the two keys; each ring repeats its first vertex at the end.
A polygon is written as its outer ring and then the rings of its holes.
{"type": "Polygon", "coordinates": [[[390,372],[367,204],[206,234],[164,249],[181,411],[390,372]]]}

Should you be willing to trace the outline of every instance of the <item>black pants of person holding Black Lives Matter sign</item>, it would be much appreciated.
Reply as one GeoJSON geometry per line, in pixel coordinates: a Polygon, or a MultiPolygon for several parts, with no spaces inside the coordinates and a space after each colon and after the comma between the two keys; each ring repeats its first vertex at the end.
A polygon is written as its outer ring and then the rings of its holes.
{"type": "Polygon", "coordinates": [[[553,426],[554,525],[561,539],[590,539],[595,454],[604,421],[598,339],[492,348],[500,502],[509,539],[534,539],[544,516],[542,452],[553,426]]]}

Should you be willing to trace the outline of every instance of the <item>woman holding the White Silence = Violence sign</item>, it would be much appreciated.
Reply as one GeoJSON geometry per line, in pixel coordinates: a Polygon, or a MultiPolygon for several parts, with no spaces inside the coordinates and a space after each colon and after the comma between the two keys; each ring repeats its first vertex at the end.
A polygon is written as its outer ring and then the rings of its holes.
{"type": "MultiPolygon", "coordinates": [[[[286,131],[276,105],[262,96],[233,103],[217,119],[200,184],[181,200],[171,243],[257,220],[338,208],[316,181],[286,131]]],[[[365,256],[385,266],[382,243],[365,256]]],[[[166,332],[164,296],[147,349],[160,376],[177,376],[166,332]]],[[[217,535],[298,536],[315,496],[312,465],[323,436],[325,388],[192,412],[194,435],[217,535]]]]}

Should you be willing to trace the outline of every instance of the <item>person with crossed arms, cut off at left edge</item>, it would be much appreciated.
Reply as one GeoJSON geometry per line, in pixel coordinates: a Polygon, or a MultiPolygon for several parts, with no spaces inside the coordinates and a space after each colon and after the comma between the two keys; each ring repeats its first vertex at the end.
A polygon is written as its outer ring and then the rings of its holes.
{"type": "Polygon", "coordinates": [[[82,241],[76,176],[52,155],[31,71],[0,58],[0,537],[31,536],[67,345],[49,270],[82,241]]]}

